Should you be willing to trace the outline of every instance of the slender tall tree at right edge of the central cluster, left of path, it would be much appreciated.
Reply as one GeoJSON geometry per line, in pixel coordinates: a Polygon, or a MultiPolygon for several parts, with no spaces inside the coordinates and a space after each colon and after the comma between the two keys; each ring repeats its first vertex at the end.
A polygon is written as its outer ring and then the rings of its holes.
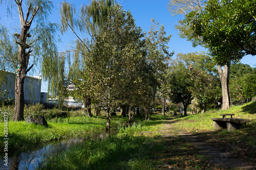
{"type": "MultiPolygon", "coordinates": [[[[148,106],[150,108],[150,116],[152,115],[152,108],[155,104],[157,90],[161,86],[161,80],[163,78],[164,71],[167,68],[167,61],[173,56],[174,52],[168,52],[168,46],[166,45],[172,35],[166,36],[164,26],[159,27],[159,23],[154,18],[151,20],[152,25],[148,35],[146,37],[146,52],[147,52],[147,64],[148,64],[148,106]]],[[[147,111],[145,120],[147,118],[147,111]]]]}

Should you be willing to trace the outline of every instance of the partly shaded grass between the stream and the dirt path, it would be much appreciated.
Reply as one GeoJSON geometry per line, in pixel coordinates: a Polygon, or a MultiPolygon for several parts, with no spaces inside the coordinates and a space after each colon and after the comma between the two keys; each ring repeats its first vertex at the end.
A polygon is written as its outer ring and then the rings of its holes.
{"type": "Polygon", "coordinates": [[[157,121],[120,130],[105,140],[87,141],[46,157],[38,169],[165,169],[212,167],[209,160],[179,136],[163,138],[154,131],[157,121]],[[209,163],[209,164],[208,164],[209,163]]]}

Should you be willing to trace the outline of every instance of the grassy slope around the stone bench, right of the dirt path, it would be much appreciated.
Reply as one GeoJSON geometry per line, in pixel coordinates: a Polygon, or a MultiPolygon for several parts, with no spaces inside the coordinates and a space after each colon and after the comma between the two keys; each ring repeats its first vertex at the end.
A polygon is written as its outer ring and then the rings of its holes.
{"type": "Polygon", "coordinates": [[[187,131],[198,135],[216,147],[223,148],[230,154],[256,166],[256,102],[241,106],[232,106],[229,110],[212,110],[206,113],[188,115],[174,120],[176,130],[187,131]],[[228,132],[225,129],[214,130],[211,117],[222,117],[220,114],[233,113],[234,118],[247,118],[250,122],[240,130],[228,132]]]}

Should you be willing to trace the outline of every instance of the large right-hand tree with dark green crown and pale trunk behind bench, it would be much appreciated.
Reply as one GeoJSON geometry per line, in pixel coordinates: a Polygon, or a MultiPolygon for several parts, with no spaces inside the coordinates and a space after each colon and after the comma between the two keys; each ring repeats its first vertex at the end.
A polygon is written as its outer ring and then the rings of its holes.
{"type": "Polygon", "coordinates": [[[255,55],[255,1],[170,0],[169,12],[185,15],[176,28],[193,45],[206,47],[218,65],[223,109],[230,100],[230,65],[244,55],[255,55]],[[223,66],[223,67],[222,67],[223,66]]]}

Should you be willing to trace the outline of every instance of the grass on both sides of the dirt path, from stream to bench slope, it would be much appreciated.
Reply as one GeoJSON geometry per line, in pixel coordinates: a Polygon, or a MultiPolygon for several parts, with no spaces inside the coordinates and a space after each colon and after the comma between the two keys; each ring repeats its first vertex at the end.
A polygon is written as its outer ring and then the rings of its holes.
{"type": "MultiPolygon", "coordinates": [[[[255,102],[232,107],[227,111],[212,110],[206,113],[174,118],[174,129],[199,135],[202,140],[237,154],[247,163],[255,164],[255,102]],[[211,117],[221,113],[234,113],[234,117],[250,118],[244,128],[227,132],[214,130],[211,117]]],[[[38,169],[224,169],[214,166],[193,145],[180,136],[161,137],[140,134],[155,131],[162,120],[142,122],[132,128],[122,129],[105,140],[88,141],[56,155],[46,157],[38,169]]]]}

